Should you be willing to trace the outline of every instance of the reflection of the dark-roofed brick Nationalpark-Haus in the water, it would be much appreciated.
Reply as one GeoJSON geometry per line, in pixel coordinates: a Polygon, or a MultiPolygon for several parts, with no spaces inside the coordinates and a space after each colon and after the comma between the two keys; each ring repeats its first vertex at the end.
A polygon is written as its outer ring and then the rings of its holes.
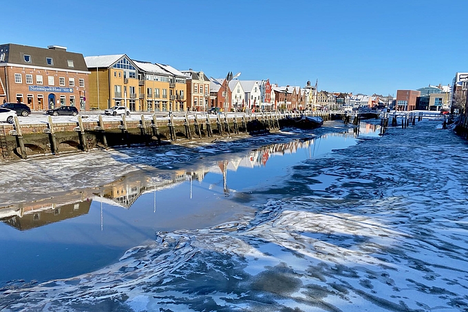
{"type": "MultiPolygon", "coordinates": [[[[16,207],[14,216],[3,220],[3,222],[11,227],[24,231],[82,216],[89,212],[92,199],[84,198],[83,193],[81,193],[80,197],[81,198],[76,199],[76,201],[70,202],[70,194],[66,194],[54,198],[47,198],[45,200],[38,200],[29,204],[23,203],[21,207],[16,207]]],[[[10,210],[11,208],[12,207],[9,207],[10,210]]],[[[2,211],[3,208],[0,208],[0,216],[2,211]]]]}

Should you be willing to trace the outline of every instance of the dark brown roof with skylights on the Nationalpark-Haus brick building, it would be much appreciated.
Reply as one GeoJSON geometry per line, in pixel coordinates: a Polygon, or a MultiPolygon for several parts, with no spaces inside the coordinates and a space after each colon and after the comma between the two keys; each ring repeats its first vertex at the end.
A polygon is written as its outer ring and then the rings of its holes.
{"type": "Polygon", "coordinates": [[[0,63],[11,63],[21,66],[49,67],[51,69],[83,71],[87,72],[87,66],[83,54],[68,52],[67,48],[50,45],[49,48],[37,48],[29,45],[7,43],[0,45],[0,54],[5,54],[0,63]],[[29,56],[29,60],[25,60],[29,56]],[[48,63],[47,59],[52,59],[48,63]],[[72,61],[70,66],[68,61],[72,61]]]}

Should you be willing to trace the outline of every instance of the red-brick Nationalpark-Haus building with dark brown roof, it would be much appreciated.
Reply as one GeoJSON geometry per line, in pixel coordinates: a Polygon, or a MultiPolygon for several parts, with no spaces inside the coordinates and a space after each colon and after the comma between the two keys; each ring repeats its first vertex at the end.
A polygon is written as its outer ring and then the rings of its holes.
{"type": "Polygon", "coordinates": [[[25,103],[32,111],[74,106],[89,110],[89,71],[83,54],[50,45],[0,45],[0,101],[25,103]]]}

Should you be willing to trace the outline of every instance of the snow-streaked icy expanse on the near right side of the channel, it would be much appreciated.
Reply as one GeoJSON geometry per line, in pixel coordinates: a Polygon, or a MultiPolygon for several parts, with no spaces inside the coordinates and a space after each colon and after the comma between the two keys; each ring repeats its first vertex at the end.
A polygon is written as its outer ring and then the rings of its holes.
{"type": "Polygon", "coordinates": [[[306,160],[283,185],[249,192],[270,194],[253,218],[158,233],[99,271],[13,284],[0,306],[467,311],[468,146],[435,125],[390,129],[306,160]]]}

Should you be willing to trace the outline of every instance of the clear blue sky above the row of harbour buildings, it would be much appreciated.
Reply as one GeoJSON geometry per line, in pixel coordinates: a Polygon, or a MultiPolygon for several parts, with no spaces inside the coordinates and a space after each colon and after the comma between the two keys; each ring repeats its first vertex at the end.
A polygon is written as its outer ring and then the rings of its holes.
{"type": "Polygon", "coordinates": [[[468,71],[468,1],[8,1],[1,43],[393,94],[468,71]]]}

